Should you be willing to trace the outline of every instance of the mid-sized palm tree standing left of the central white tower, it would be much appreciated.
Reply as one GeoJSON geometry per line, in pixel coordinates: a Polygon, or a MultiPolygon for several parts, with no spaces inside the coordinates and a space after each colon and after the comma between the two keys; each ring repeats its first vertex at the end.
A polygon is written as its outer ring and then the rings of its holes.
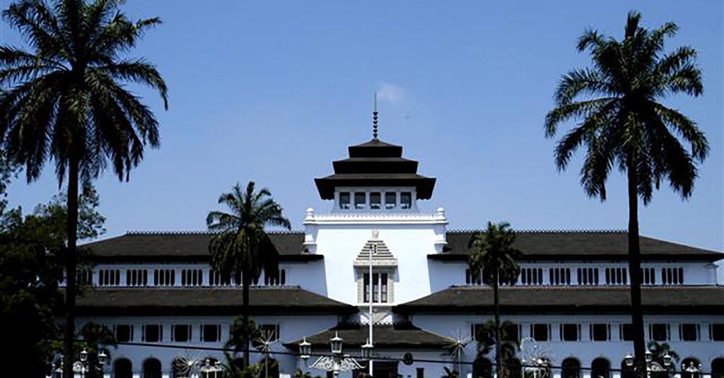
{"type": "MultiPolygon", "coordinates": [[[[211,266],[224,280],[234,274],[241,277],[242,324],[249,324],[249,286],[264,271],[266,276],[278,272],[279,254],[265,226],[291,229],[289,219],[282,217],[282,206],[271,198],[266,188],[255,192],[250,181],[243,191],[237,183],[230,193],[222,193],[219,203],[230,212],[211,211],[206,217],[209,231],[216,232],[209,242],[211,266]]],[[[244,366],[249,366],[250,327],[244,332],[244,366]]]]}

